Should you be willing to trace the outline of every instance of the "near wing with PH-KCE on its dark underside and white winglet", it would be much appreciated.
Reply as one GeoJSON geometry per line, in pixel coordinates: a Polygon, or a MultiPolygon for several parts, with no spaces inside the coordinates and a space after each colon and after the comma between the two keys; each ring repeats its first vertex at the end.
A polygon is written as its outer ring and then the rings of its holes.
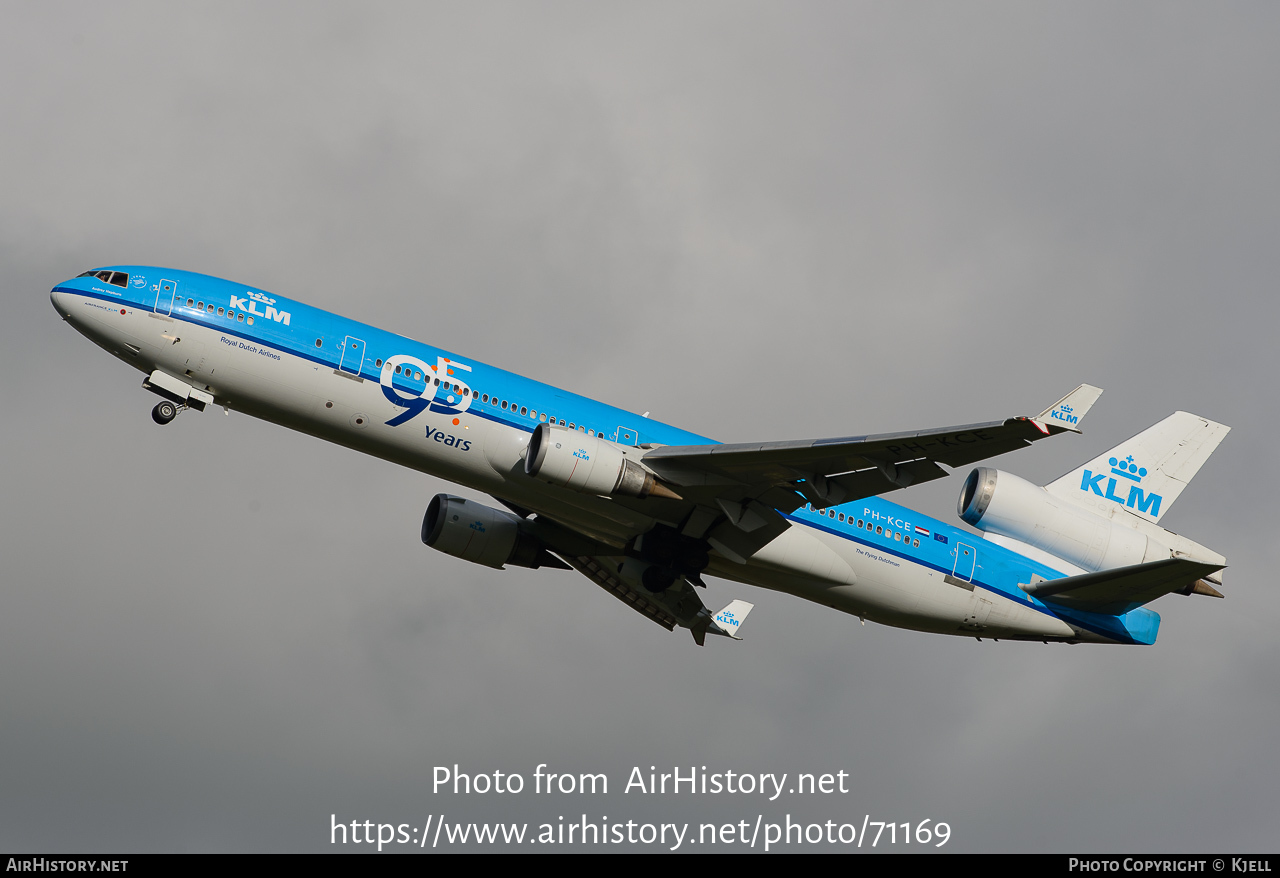
{"type": "Polygon", "coordinates": [[[780,512],[884,494],[946,476],[940,465],[964,466],[1044,436],[1079,433],[1080,419],[1101,394],[1082,384],[1034,417],[837,439],[666,445],[643,459],[701,508],[685,532],[707,536],[741,562],[786,530],[780,512]],[[717,523],[721,518],[730,526],[717,523]]]}

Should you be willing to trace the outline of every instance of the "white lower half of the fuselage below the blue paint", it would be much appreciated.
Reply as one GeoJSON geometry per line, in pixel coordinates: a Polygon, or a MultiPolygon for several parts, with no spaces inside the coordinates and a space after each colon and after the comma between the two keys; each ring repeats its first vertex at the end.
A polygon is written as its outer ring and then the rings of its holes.
{"type": "MultiPolygon", "coordinates": [[[[207,389],[232,411],[500,497],[620,549],[660,521],[646,515],[650,500],[625,504],[530,479],[522,457],[526,430],[471,412],[454,417],[431,411],[388,426],[402,410],[376,381],[180,319],[133,308],[120,314],[110,302],[58,296],[68,321],[104,349],[142,372],[159,369],[207,389]]],[[[1112,643],[988,589],[947,581],[908,558],[795,521],[745,564],[712,554],[707,573],[916,631],[1112,643]]]]}

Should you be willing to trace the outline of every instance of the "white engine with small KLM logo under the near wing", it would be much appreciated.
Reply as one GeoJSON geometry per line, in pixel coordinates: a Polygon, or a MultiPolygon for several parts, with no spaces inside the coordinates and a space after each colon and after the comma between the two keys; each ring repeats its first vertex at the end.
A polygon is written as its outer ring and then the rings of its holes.
{"type": "Polygon", "coordinates": [[[539,424],[525,452],[525,472],[559,488],[600,497],[675,497],[622,445],[568,427],[539,424]]]}

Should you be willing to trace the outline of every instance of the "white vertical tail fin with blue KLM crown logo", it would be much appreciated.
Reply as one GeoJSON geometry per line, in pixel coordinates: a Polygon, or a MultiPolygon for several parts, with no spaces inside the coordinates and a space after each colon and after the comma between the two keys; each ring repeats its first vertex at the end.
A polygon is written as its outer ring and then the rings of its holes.
{"type": "Polygon", "coordinates": [[[1174,412],[1044,490],[1107,518],[1158,522],[1231,427],[1174,412]]]}

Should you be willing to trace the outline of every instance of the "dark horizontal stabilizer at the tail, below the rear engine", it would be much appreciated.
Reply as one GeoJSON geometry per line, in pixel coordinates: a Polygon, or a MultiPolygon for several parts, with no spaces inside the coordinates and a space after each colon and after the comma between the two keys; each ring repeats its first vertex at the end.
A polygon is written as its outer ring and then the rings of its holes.
{"type": "MultiPolygon", "coordinates": [[[[1206,594],[1197,587],[1203,577],[1222,570],[1187,558],[1165,558],[1146,564],[1116,567],[1098,573],[1082,573],[1060,580],[1024,585],[1027,594],[1060,603],[1071,609],[1121,616],[1174,591],[1206,594]]],[[[1217,595],[1221,596],[1221,595],[1217,595]]]]}

